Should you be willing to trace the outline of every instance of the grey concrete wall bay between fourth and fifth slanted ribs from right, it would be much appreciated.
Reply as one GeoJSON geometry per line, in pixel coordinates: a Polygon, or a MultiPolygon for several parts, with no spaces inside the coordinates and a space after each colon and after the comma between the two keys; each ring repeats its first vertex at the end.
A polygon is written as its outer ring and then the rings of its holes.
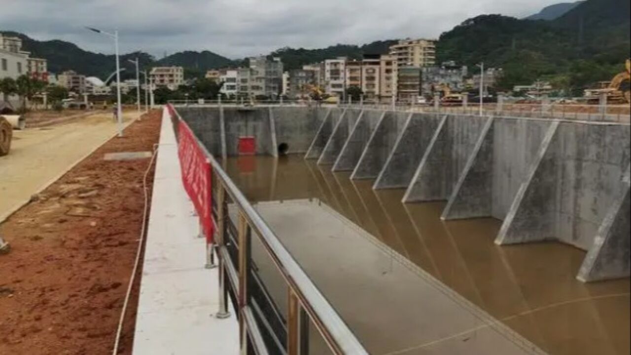
{"type": "Polygon", "coordinates": [[[410,114],[372,188],[407,188],[439,122],[434,114],[410,114]]]}

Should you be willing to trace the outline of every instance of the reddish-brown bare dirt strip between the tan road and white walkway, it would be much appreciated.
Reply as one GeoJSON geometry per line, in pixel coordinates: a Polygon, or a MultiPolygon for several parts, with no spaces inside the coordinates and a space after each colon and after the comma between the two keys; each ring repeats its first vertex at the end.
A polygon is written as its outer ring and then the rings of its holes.
{"type": "MultiPolygon", "coordinates": [[[[150,159],[106,161],[103,154],[151,151],[159,133],[160,112],[154,111],[0,226],[11,244],[11,252],[0,255],[0,354],[112,352],[138,248],[150,159]]],[[[136,280],[121,354],[132,350],[136,280]]]]}

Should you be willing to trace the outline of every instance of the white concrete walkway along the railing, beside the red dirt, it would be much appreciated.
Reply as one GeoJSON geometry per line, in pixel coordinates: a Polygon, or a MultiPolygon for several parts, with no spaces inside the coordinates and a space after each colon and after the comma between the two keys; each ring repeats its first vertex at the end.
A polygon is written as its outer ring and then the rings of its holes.
{"type": "Polygon", "coordinates": [[[219,320],[217,269],[206,270],[204,239],[182,186],[175,135],[162,120],[134,337],[135,355],[239,352],[239,326],[219,320]]]}

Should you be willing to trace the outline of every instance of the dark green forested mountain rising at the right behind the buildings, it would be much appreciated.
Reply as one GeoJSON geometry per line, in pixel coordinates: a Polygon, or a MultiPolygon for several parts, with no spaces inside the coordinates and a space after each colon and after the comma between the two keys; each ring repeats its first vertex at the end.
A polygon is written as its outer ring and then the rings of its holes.
{"type": "Polygon", "coordinates": [[[630,48],[629,1],[587,0],[553,21],[466,20],[440,35],[437,61],[501,66],[501,88],[546,78],[578,92],[622,71],[630,48]]]}

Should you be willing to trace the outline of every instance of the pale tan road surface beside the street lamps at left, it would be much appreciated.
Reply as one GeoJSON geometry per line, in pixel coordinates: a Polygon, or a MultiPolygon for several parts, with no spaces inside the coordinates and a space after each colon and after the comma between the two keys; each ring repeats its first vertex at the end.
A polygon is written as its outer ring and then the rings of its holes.
{"type": "MultiPolygon", "coordinates": [[[[127,125],[139,113],[125,112],[124,117],[127,125]]],[[[13,131],[11,152],[0,157],[0,222],[116,131],[110,113],[47,128],[13,131]]]]}

